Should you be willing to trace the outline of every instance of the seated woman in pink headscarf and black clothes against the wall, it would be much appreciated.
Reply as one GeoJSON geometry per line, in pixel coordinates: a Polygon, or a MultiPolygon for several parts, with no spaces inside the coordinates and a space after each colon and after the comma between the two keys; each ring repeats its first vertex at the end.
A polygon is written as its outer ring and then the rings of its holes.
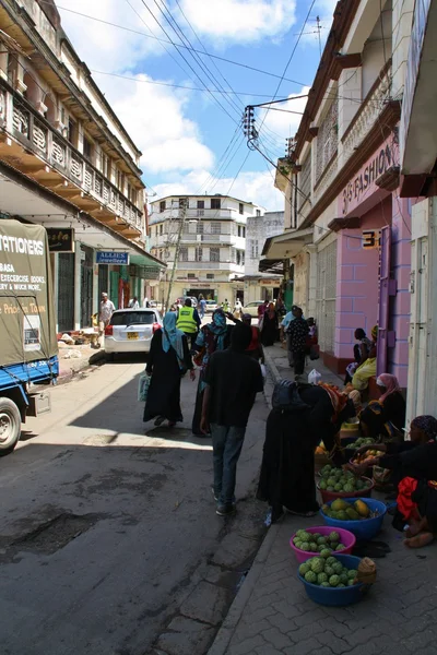
{"type": "Polygon", "coordinates": [[[375,440],[379,437],[392,439],[401,434],[405,425],[405,401],[395,376],[381,373],[376,383],[381,395],[378,401],[370,401],[361,413],[362,431],[365,437],[375,440]]]}

